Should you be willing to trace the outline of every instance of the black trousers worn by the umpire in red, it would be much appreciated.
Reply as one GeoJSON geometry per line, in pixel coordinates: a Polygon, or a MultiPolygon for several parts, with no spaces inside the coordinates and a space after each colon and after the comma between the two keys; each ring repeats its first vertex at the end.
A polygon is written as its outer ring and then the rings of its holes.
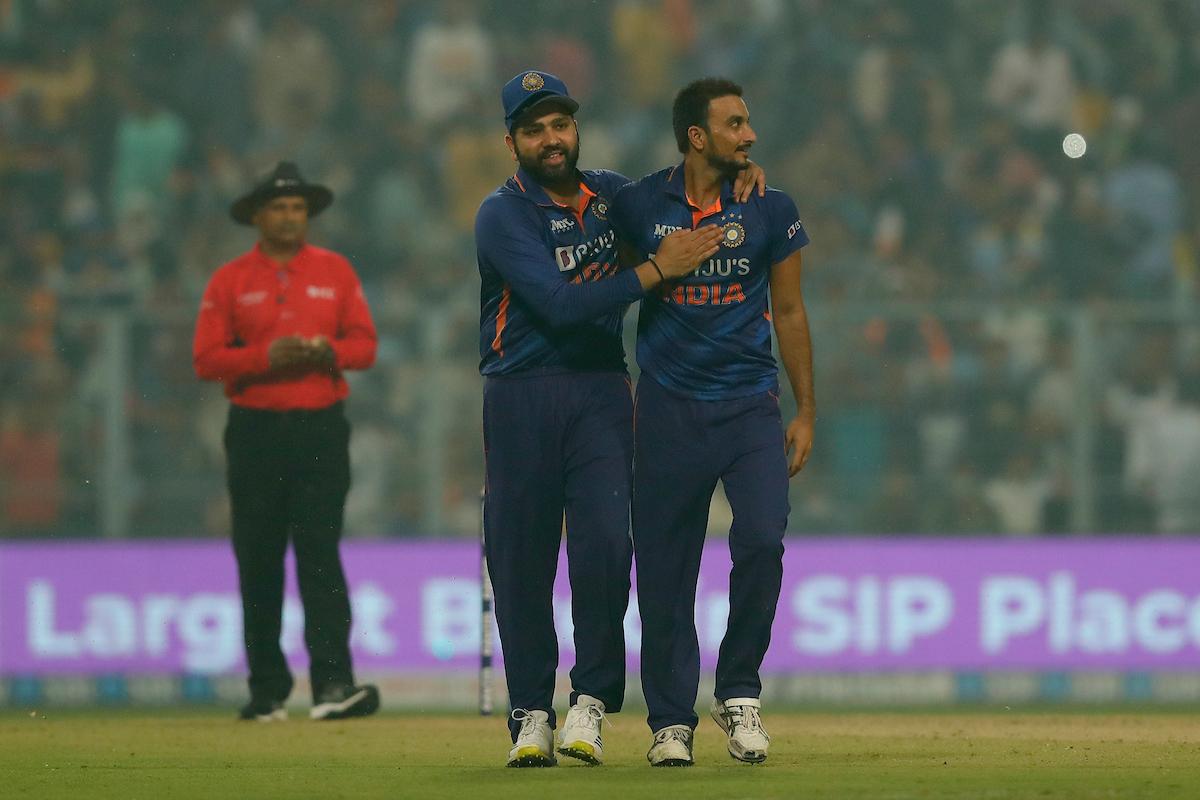
{"type": "Polygon", "coordinates": [[[254,699],[283,700],[292,692],[292,672],[280,646],[289,539],[313,699],[331,685],[354,682],[350,601],[338,554],[350,488],[349,438],[341,403],[313,411],[229,409],[224,445],[233,551],[254,699]]]}

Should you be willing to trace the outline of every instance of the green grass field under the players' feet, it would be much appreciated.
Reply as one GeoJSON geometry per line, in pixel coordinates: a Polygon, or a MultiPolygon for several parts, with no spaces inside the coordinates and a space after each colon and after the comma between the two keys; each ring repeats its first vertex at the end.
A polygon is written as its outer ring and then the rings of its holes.
{"type": "MultiPolygon", "coordinates": [[[[696,766],[652,769],[640,712],[606,764],[503,768],[500,718],[239,723],[217,711],[0,712],[6,798],[1200,798],[1188,710],[772,714],[770,759],[733,762],[709,720],[696,766]]],[[[564,759],[566,760],[566,759],[564,759]]]]}

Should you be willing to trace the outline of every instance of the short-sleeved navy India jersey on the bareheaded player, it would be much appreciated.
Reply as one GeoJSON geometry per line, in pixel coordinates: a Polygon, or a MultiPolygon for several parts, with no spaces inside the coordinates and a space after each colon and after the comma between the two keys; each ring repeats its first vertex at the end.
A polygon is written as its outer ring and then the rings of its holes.
{"type": "Polygon", "coordinates": [[[726,181],[718,201],[695,207],[683,166],[622,188],[613,227],[640,259],[680,228],[725,229],[716,255],[683,281],[646,295],[637,319],[637,363],[670,391],[695,399],[732,399],[778,390],[770,349],[770,267],[809,242],[792,199],[768,188],[745,203],[726,181]]]}

